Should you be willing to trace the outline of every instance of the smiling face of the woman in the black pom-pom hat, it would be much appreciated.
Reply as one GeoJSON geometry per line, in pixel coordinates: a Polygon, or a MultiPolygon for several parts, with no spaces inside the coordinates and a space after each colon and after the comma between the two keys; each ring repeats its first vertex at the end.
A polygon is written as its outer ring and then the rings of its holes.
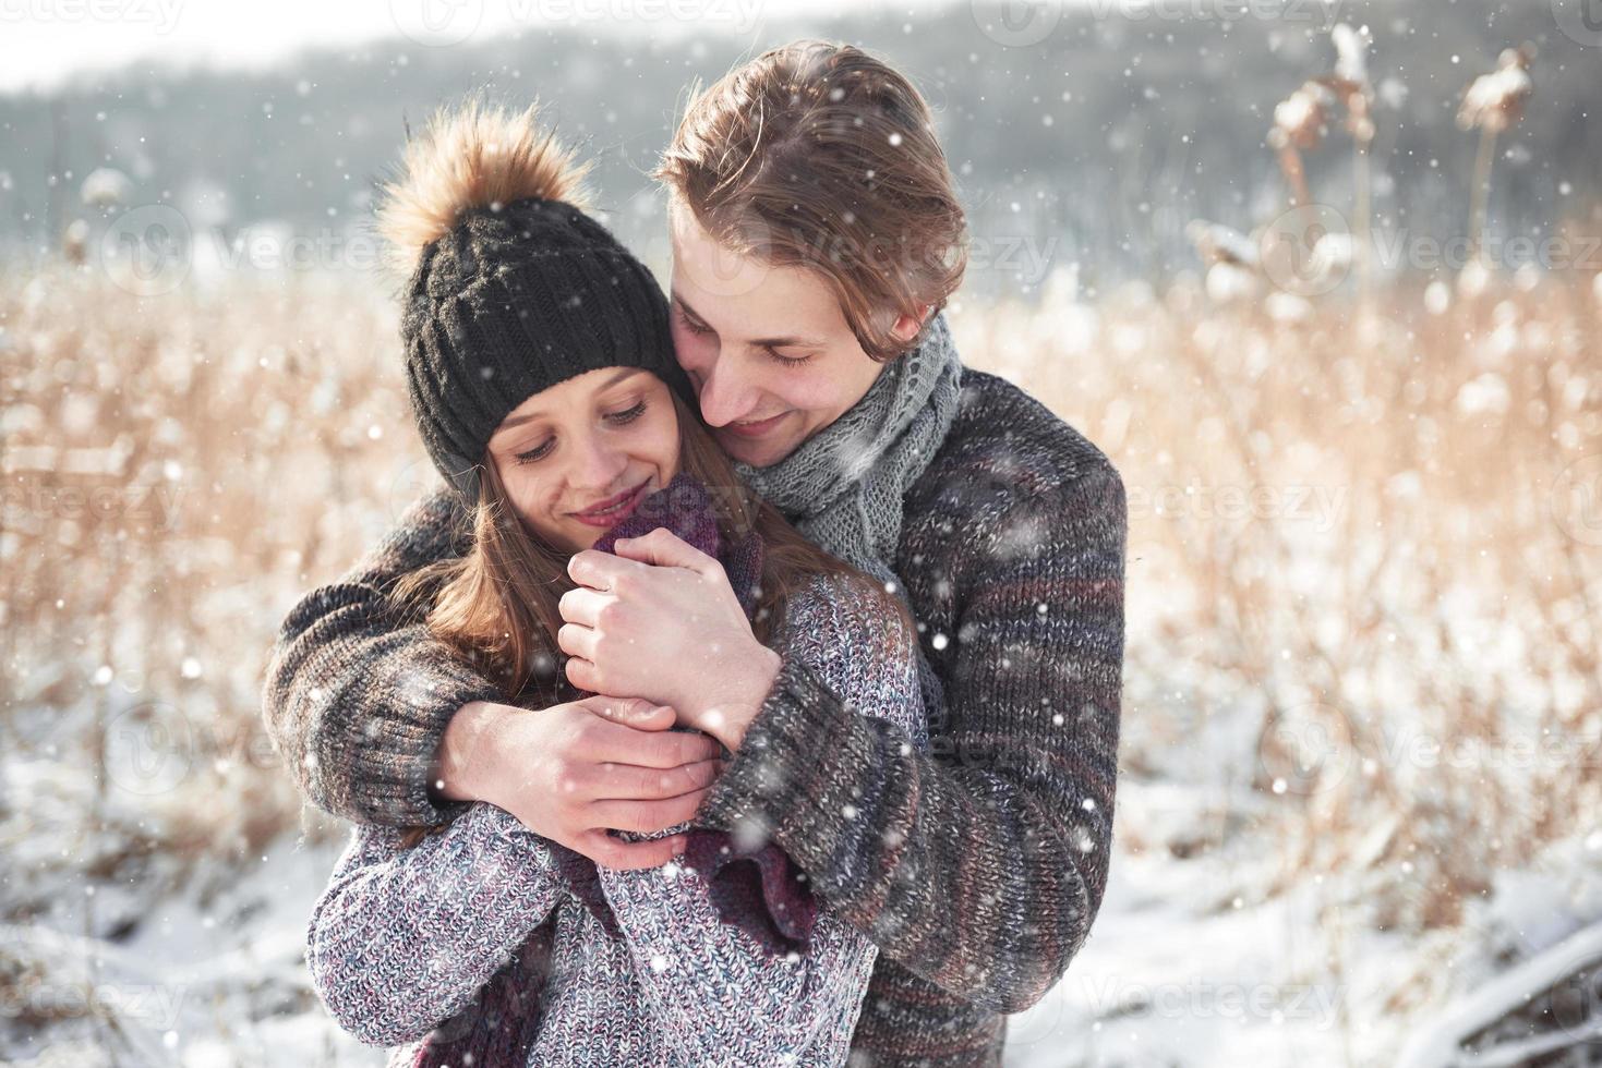
{"type": "Polygon", "coordinates": [[[578,552],[673,480],[679,420],[654,373],[606,367],[524,400],[501,420],[489,453],[524,524],[578,552]]]}

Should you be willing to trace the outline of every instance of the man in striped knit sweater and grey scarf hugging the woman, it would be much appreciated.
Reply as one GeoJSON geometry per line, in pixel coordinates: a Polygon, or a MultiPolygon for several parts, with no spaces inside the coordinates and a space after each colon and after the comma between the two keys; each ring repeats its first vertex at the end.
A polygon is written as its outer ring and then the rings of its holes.
{"type": "MultiPolygon", "coordinates": [[[[961,211],[929,109],[888,64],[823,42],[764,53],[694,99],[660,176],[674,347],[702,416],[807,538],[894,581],[940,701],[921,753],[782,656],[758,709],[731,706],[740,746],[697,823],[771,834],[879,946],[854,1054],[998,1063],[1001,1014],[1057,982],[1107,882],[1123,482],[1073,428],[956,359],[939,309],[961,277],[961,211]]],[[[453,512],[436,495],[341,596],[316,591],[285,621],[264,708],[303,788],[380,825],[487,799],[580,844],[618,810],[644,817],[668,788],[559,783],[662,759],[657,732],[618,727],[602,748],[574,727],[588,706],[509,714],[383,615],[375,584],[460,552],[442,533],[453,512]],[[428,690],[397,703],[373,679],[428,690]]],[[[679,626],[682,549],[654,538],[572,559],[567,674],[620,695],[750,685],[745,650],[679,626]]],[[[644,866],[671,847],[590,855],[644,866]]]]}

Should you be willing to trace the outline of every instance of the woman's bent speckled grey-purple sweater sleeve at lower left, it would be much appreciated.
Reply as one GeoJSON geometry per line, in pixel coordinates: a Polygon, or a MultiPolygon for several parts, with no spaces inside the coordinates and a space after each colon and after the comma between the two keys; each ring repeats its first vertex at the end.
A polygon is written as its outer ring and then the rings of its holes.
{"type": "Polygon", "coordinates": [[[457,1015],[566,892],[545,839],[492,804],[412,849],[400,836],[356,828],[306,933],[312,988],[370,1046],[457,1015]]]}

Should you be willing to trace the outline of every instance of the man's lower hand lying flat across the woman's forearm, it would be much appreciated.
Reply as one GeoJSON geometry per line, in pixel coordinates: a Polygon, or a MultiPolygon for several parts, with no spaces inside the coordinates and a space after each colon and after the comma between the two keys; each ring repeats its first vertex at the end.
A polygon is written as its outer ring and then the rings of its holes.
{"type": "Polygon", "coordinates": [[[489,801],[530,831],[614,869],[655,868],[684,836],[623,842],[687,821],[718,773],[718,743],[668,730],[671,708],[590,697],[546,709],[474,701],[441,743],[436,788],[489,801]]]}

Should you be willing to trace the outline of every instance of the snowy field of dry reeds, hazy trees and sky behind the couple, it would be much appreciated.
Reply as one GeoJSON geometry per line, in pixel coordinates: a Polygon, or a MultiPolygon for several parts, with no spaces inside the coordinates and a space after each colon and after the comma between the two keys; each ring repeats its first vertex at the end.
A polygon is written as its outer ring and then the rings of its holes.
{"type": "Polygon", "coordinates": [[[433,479],[373,183],[538,94],[663,269],[686,86],[801,34],[926,91],[964,360],[1129,493],[1112,884],[1009,1063],[1602,1060],[1588,2],[0,3],[0,1060],[383,1062],[258,711],[433,479]]]}

